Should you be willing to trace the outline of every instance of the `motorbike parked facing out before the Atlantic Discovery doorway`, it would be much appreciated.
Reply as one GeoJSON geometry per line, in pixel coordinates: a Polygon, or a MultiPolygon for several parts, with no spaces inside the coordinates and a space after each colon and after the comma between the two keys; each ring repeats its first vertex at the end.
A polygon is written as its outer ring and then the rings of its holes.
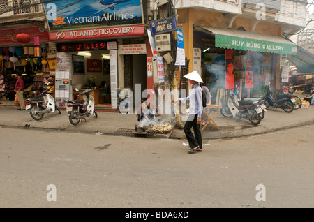
{"type": "MultiPolygon", "coordinates": [[[[78,91],[78,89],[75,89],[78,91]]],[[[79,96],[83,96],[84,99],[82,100],[72,100],[68,101],[68,105],[66,107],[66,112],[68,112],[68,119],[70,123],[74,126],[79,124],[81,119],[94,115],[95,118],[98,117],[95,108],[95,101],[93,96],[90,95],[91,91],[94,89],[87,89],[84,90],[79,96]]]]}

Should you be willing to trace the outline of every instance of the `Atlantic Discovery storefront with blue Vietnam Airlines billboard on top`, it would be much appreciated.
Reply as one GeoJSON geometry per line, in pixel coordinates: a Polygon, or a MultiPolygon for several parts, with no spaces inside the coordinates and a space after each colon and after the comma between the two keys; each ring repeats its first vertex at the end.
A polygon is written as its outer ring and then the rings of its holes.
{"type": "Polygon", "coordinates": [[[96,108],[119,106],[117,91],[143,82],[146,87],[146,44],[140,0],[47,3],[50,51],[55,61],[55,99],[64,107],[77,98],[74,88],[94,88],[96,108]],[[141,66],[144,64],[144,67],[141,66]]]}

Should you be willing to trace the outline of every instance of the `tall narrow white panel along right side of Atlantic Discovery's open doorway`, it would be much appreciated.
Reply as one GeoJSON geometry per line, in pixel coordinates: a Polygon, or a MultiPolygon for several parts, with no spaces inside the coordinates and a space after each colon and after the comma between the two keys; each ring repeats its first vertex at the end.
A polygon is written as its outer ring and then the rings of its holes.
{"type": "Polygon", "coordinates": [[[110,50],[110,89],[111,106],[117,108],[118,67],[117,50],[110,50]]]}

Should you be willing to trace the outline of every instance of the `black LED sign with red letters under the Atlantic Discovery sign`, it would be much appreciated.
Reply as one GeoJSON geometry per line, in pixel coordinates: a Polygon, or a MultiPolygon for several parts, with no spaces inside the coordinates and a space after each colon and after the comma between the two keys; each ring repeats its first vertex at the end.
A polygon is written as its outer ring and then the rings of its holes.
{"type": "Polygon", "coordinates": [[[77,43],[77,44],[62,44],[58,45],[59,52],[75,52],[75,51],[94,51],[107,50],[107,43],[77,43]]]}

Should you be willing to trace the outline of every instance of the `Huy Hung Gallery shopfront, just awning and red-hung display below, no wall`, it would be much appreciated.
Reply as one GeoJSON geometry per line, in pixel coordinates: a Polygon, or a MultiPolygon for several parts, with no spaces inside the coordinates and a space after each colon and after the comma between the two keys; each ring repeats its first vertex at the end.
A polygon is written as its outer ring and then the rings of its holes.
{"type": "Polygon", "coordinates": [[[193,49],[202,53],[202,78],[214,94],[239,87],[240,97],[261,97],[276,84],[276,55],[297,54],[297,46],[278,36],[195,27],[193,49]],[[270,40],[271,41],[270,41],[270,40]]]}

